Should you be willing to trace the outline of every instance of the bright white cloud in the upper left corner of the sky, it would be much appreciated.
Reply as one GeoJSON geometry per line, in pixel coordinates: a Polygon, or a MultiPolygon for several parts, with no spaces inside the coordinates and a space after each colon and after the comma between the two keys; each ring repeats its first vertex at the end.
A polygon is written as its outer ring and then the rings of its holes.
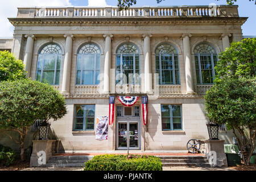
{"type": "MultiPolygon", "coordinates": [[[[95,0],[94,0],[95,1],[95,0]]],[[[104,0],[105,1],[105,0],[104,0]]],[[[17,7],[22,6],[70,6],[69,0],[7,0],[0,6],[0,37],[13,36],[13,25],[7,18],[15,18],[17,7]]]]}

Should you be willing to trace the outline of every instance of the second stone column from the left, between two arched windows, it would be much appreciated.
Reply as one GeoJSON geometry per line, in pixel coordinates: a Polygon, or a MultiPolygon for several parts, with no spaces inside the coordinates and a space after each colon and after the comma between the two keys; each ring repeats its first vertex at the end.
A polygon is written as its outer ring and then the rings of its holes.
{"type": "Polygon", "coordinates": [[[66,44],[61,93],[68,94],[70,85],[73,35],[64,35],[64,38],[66,38],[66,44]]]}

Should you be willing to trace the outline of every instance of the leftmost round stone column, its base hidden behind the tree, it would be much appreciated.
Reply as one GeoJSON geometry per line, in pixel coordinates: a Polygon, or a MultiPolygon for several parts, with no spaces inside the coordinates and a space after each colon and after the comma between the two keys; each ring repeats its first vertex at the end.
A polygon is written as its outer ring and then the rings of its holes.
{"type": "Polygon", "coordinates": [[[24,65],[25,65],[25,71],[27,71],[27,77],[30,77],[30,68],[31,68],[35,35],[25,35],[25,38],[27,38],[27,44],[26,44],[26,50],[25,50],[25,56],[24,56],[24,65]]]}

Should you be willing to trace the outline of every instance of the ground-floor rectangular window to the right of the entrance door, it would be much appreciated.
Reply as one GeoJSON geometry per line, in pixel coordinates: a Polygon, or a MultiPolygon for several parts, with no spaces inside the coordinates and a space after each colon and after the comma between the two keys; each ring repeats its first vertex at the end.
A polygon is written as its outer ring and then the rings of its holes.
{"type": "Polygon", "coordinates": [[[181,105],[161,105],[162,130],[182,130],[181,105]]]}

